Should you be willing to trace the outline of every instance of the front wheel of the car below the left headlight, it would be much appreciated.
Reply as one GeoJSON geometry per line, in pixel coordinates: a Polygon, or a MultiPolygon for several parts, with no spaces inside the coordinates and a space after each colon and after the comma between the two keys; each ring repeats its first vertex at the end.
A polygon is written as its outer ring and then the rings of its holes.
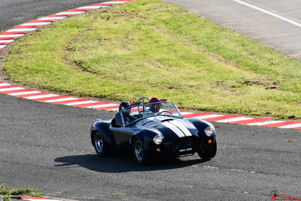
{"type": "Polygon", "coordinates": [[[133,143],[133,154],[139,165],[149,165],[151,163],[151,158],[149,157],[146,149],[142,145],[141,141],[136,138],[133,143]]]}

